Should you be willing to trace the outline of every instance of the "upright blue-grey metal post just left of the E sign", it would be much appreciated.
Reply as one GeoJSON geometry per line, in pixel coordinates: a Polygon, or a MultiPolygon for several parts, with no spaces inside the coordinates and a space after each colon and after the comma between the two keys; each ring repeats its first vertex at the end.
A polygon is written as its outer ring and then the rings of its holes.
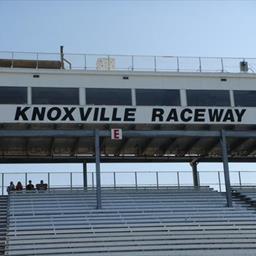
{"type": "Polygon", "coordinates": [[[101,209],[101,183],[100,183],[100,135],[95,130],[95,164],[96,164],[96,196],[97,209],[101,209]]]}

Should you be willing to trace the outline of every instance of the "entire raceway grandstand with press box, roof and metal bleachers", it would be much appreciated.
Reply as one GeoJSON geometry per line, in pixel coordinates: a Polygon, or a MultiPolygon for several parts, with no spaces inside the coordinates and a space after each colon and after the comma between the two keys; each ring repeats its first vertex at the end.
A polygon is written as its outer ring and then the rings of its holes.
{"type": "Polygon", "coordinates": [[[228,165],[256,160],[255,63],[0,53],[0,162],[84,164],[81,188],[2,197],[2,254],[255,255],[254,188],[228,165]],[[220,161],[225,193],[197,172],[220,161]],[[102,162],[189,162],[193,186],[102,187],[102,162]]]}

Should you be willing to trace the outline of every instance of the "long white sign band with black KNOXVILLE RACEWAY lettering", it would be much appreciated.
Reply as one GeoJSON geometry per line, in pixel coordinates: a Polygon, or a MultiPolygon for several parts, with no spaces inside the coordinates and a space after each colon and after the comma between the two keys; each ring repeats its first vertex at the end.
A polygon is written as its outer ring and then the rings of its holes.
{"type": "Polygon", "coordinates": [[[0,122],[256,124],[256,108],[1,105],[0,122]]]}

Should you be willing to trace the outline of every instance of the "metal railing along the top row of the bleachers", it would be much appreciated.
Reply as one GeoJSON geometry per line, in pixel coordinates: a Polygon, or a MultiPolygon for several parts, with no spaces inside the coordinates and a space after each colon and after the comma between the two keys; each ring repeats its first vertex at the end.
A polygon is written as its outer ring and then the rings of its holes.
{"type": "MultiPolygon", "coordinates": [[[[210,186],[220,192],[225,191],[224,174],[222,171],[198,172],[201,186],[210,186]]],[[[43,180],[49,188],[76,189],[83,187],[82,172],[16,172],[1,173],[1,194],[6,194],[10,181],[16,184],[21,181],[23,185],[32,180],[34,184],[43,180]]],[[[232,186],[256,186],[256,171],[231,171],[232,186]]],[[[156,187],[162,186],[192,186],[192,172],[189,171],[134,171],[134,172],[101,172],[101,185],[103,187],[156,187]]],[[[88,188],[96,187],[95,172],[87,173],[88,188]]]]}

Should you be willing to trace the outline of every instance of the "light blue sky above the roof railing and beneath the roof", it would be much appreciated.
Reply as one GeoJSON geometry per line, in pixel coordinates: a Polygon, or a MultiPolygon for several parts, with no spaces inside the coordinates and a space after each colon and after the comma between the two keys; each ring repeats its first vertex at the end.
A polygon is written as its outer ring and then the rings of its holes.
{"type": "MultiPolygon", "coordinates": [[[[0,0],[0,50],[256,57],[256,1],[0,0]]],[[[2,171],[81,170],[81,165],[1,165],[2,171]]],[[[89,170],[94,166],[90,165],[89,170]]],[[[103,165],[103,170],[190,170],[187,164],[103,165]]],[[[221,170],[221,164],[200,164],[221,170]]],[[[256,166],[231,165],[232,170],[256,166]]]]}

